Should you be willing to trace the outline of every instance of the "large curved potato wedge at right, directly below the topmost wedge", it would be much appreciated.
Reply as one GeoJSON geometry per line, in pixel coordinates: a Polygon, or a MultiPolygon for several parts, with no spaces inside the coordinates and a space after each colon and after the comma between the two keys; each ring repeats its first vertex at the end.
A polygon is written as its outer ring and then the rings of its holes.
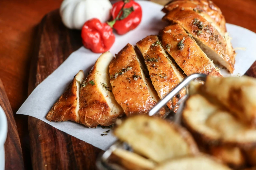
{"type": "Polygon", "coordinates": [[[213,105],[200,94],[191,95],[182,113],[185,127],[206,144],[256,145],[256,129],[251,129],[222,107],[213,105]]]}

